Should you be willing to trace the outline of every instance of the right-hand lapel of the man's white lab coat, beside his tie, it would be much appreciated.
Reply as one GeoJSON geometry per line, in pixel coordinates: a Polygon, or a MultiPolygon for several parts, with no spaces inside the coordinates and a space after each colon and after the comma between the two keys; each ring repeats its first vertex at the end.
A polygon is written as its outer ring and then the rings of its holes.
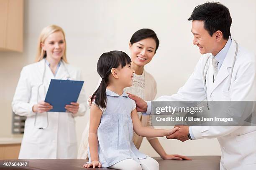
{"type": "MultiPolygon", "coordinates": [[[[223,64],[220,67],[220,70],[218,72],[217,77],[215,78],[215,81],[213,82],[212,90],[210,94],[220,85],[221,82],[225,80],[225,78],[228,77],[230,74],[230,67],[232,67],[234,56],[236,53],[236,42],[232,40],[232,43],[229,47],[228,53],[223,61],[223,64]]],[[[213,74],[212,74],[213,75],[213,74]]]]}

